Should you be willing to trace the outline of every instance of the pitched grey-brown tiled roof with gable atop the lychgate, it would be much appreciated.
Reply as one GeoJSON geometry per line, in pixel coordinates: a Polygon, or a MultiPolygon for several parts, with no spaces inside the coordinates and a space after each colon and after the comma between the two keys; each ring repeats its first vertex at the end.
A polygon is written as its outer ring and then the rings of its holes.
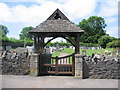
{"type": "Polygon", "coordinates": [[[29,33],[83,33],[80,27],[71,22],[59,9],[29,33]]]}

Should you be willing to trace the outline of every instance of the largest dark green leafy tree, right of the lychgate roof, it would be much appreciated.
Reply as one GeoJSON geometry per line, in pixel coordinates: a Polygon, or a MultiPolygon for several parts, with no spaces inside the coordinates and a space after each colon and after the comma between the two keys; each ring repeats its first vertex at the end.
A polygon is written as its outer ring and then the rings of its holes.
{"type": "Polygon", "coordinates": [[[107,25],[102,17],[91,16],[87,20],[83,19],[78,26],[85,30],[84,34],[80,37],[80,41],[84,43],[97,44],[100,36],[106,34],[104,29],[107,25]]]}

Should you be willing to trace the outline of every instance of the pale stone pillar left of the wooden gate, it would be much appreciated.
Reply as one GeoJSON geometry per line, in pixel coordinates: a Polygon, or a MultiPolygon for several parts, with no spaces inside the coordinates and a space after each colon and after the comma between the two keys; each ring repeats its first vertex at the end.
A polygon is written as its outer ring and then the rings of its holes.
{"type": "Polygon", "coordinates": [[[39,75],[39,54],[37,53],[31,54],[30,56],[30,75],[39,75]]]}

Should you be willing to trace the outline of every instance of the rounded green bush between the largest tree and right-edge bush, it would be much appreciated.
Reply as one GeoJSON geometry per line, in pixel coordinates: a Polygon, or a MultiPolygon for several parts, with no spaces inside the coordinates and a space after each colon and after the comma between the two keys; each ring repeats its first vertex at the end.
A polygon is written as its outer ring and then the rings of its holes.
{"type": "Polygon", "coordinates": [[[109,43],[109,42],[112,42],[113,41],[113,38],[110,37],[109,35],[104,35],[104,36],[101,36],[99,39],[98,39],[98,44],[102,47],[102,48],[106,48],[106,44],[109,43]]]}

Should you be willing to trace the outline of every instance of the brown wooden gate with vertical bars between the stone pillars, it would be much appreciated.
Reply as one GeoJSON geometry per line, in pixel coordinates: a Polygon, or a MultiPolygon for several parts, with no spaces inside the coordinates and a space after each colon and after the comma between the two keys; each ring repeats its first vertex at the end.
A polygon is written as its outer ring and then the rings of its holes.
{"type": "Polygon", "coordinates": [[[74,75],[75,72],[75,54],[64,57],[50,57],[42,55],[41,73],[54,75],[74,75]]]}

